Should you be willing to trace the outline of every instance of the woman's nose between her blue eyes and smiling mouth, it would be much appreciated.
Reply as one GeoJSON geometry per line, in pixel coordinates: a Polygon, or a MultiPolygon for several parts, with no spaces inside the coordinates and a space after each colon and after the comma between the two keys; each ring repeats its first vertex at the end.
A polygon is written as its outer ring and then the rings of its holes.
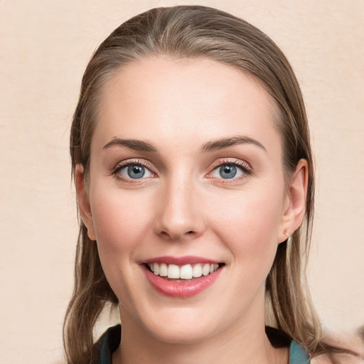
{"type": "Polygon", "coordinates": [[[203,208],[193,183],[188,178],[177,179],[168,181],[160,191],[155,231],[166,240],[193,239],[205,230],[203,208]]]}

